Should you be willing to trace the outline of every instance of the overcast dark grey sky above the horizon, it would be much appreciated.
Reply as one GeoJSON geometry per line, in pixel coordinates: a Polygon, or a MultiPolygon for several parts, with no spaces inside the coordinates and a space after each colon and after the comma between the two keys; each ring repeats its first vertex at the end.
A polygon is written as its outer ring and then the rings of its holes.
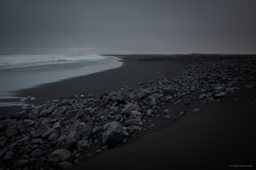
{"type": "Polygon", "coordinates": [[[256,0],[0,0],[0,54],[256,54],[256,0]]]}

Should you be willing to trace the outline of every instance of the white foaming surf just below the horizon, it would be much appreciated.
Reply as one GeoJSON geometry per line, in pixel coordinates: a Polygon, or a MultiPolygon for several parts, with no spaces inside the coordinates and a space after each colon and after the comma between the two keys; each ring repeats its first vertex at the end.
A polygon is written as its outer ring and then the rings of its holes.
{"type": "Polygon", "coordinates": [[[79,61],[100,61],[107,58],[108,56],[99,55],[0,55],[0,70],[79,61]]]}

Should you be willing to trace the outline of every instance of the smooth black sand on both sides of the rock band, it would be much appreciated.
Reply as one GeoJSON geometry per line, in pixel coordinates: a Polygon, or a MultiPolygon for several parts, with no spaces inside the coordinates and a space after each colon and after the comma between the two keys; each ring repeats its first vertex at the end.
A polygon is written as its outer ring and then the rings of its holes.
{"type": "MultiPolygon", "coordinates": [[[[155,61],[156,57],[166,56],[118,57],[124,57],[124,65],[120,68],[17,91],[17,96],[36,96],[36,100],[29,101],[29,104],[35,105],[58,98],[68,99],[71,94],[87,96],[93,93],[95,98],[98,98],[104,92],[116,91],[116,88],[139,87],[138,82],[143,82],[142,88],[146,88],[147,81],[156,84],[159,80],[163,81],[170,75],[181,72],[185,66],[192,63],[204,65],[210,61],[225,59],[208,56],[196,60],[183,57],[182,60],[155,61]],[[148,59],[138,61],[143,58],[148,59]],[[152,61],[150,58],[153,58],[152,61]],[[161,74],[156,74],[157,72],[161,74]]],[[[251,58],[252,62],[253,60],[255,57],[251,58]]],[[[220,101],[201,104],[198,98],[202,92],[181,96],[178,98],[181,102],[166,104],[165,108],[158,109],[158,112],[163,112],[166,108],[172,110],[176,121],[168,120],[171,123],[166,123],[167,120],[162,120],[159,127],[139,132],[140,137],[136,140],[128,139],[123,146],[94,154],[91,158],[85,157],[89,152],[84,153],[81,156],[84,161],[66,169],[232,169],[233,165],[253,165],[256,158],[256,89],[245,89],[244,85],[256,83],[255,79],[248,80],[256,75],[255,71],[254,65],[254,71],[229,75],[242,76],[245,81],[239,85],[240,91],[230,93],[219,99],[220,101]],[[193,104],[192,107],[184,104],[187,98],[192,97],[195,98],[190,103],[193,104]],[[200,112],[192,112],[195,108],[199,108],[200,112]],[[186,114],[178,117],[181,111],[186,114]]],[[[19,111],[19,107],[5,107],[0,110],[5,116],[19,111]]],[[[156,123],[156,120],[153,120],[153,123],[156,123]]]]}

